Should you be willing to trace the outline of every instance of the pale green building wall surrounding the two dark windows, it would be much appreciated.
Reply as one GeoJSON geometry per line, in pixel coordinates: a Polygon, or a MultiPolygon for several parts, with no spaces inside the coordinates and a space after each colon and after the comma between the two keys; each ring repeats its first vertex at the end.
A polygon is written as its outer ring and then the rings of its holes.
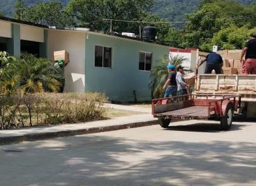
{"type": "Polygon", "coordinates": [[[86,39],[86,91],[105,92],[113,101],[149,101],[150,72],[138,70],[139,51],[152,52],[153,65],[169,47],[89,33],[86,39]],[[112,68],[95,67],[95,45],[112,48],[112,68]]]}

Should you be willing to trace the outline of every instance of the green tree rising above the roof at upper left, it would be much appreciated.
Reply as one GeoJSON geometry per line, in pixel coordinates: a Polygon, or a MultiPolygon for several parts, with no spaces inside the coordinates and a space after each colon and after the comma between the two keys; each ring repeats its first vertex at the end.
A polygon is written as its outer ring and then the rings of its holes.
{"type": "Polygon", "coordinates": [[[70,17],[62,8],[60,1],[37,3],[23,10],[23,20],[33,23],[64,27],[70,25],[70,17]]]}

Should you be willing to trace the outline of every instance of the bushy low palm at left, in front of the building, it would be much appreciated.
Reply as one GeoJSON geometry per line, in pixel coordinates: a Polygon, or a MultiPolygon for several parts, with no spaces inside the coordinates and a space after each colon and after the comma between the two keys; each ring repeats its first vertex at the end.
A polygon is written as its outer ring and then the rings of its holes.
{"type": "MultiPolygon", "coordinates": [[[[6,59],[6,58],[0,58],[6,59]]],[[[1,60],[3,61],[3,60],[1,60]]],[[[5,95],[21,93],[60,92],[63,78],[60,69],[48,59],[37,59],[32,54],[22,54],[21,59],[8,60],[1,69],[1,88],[5,95]]]]}

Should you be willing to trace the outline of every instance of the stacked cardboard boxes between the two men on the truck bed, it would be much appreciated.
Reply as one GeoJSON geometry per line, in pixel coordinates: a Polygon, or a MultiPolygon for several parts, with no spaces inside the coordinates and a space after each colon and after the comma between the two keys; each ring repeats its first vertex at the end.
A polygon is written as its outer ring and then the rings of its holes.
{"type": "Polygon", "coordinates": [[[242,50],[220,50],[218,52],[223,58],[223,74],[242,74],[241,52],[242,50]]]}

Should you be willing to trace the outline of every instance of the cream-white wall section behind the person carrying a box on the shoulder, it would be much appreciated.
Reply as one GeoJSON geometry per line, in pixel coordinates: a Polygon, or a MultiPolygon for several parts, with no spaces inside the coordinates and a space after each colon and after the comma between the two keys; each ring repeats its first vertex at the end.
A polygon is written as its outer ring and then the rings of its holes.
{"type": "Polygon", "coordinates": [[[70,63],[64,69],[64,92],[85,91],[85,37],[85,32],[48,30],[48,57],[53,59],[53,52],[59,50],[70,55],[70,63]]]}

